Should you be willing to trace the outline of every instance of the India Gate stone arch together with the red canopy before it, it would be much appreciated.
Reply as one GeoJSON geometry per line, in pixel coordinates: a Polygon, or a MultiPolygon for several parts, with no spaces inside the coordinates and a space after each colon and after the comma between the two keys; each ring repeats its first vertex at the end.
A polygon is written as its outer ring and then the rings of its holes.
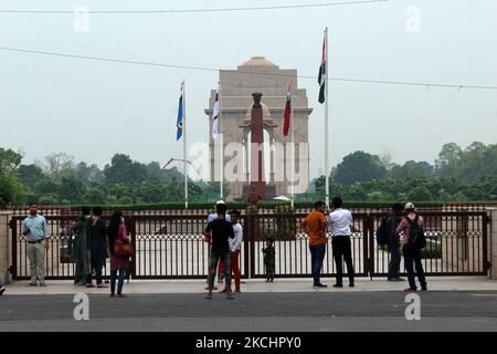
{"type": "Polygon", "coordinates": [[[308,119],[313,110],[308,106],[306,90],[298,88],[297,70],[283,70],[265,58],[255,56],[236,70],[221,70],[219,82],[221,138],[214,139],[211,135],[216,90],[211,91],[205,110],[210,122],[211,180],[223,178],[230,189],[228,199],[246,200],[255,192],[258,199],[289,197],[292,190],[294,194],[306,192],[309,187],[308,119]],[[283,135],[290,83],[294,154],[290,135],[283,135]],[[261,140],[264,144],[260,144],[261,140]],[[223,175],[220,170],[221,144],[223,175]]]}

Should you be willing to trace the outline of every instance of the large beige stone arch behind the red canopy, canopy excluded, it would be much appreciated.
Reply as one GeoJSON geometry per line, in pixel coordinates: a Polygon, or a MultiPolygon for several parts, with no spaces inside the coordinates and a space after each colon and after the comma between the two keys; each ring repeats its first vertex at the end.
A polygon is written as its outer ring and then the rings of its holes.
{"type": "MultiPolygon", "coordinates": [[[[240,65],[236,70],[221,70],[221,133],[223,134],[224,148],[231,143],[242,143],[243,153],[243,175],[242,180],[230,183],[230,199],[245,198],[247,185],[250,181],[250,166],[246,158],[250,143],[250,127],[247,125],[251,117],[251,108],[253,104],[252,94],[261,92],[262,106],[264,111],[264,129],[268,134],[268,143],[271,146],[284,146],[289,143],[290,138],[283,136],[283,115],[286,103],[286,94],[288,84],[293,82],[293,124],[294,124],[294,142],[296,144],[307,143],[309,139],[308,118],[311,108],[308,106],[307,93],[304,88],[298,88],[297,70],[282,70],[276,64],[269,62],[265,58],[254,56],[247,62],[240,65]],[[279,144],[278,144],[279,143],[279,144]],[[245,192],[244,192],[245,189],[245,192]],[[245,194],[245,195],[244,195],[245,194]]],[[[205,114],[209,115],[209,135],[212,132],[212,113],[215,102],[215,90],[211,91],[209,100],[209,108],[205,114]]],[[[266,134],[266,136],[267,136],[266,134]]],[[[220,144],[218,139],[215,144],[220,144]]],[[[266,145],[267,146],[267,145],[266,145]]],[[[266,170],[269,170],[268,197],[271,195],[289,196],[290,181],[287,171],[289,166],[285,164],[284,149],[271,149],[271,159],[265,162],[266,170]],[[284,178],[282,176],[284,174],[284,178]]],[[[304,150],[303,150],[304,152],[304,150]]],[[[290,156],[290,155],[289,155],[290,156]]],[[[225,157],[224,166],[229,164],[230,157],[225,157]]],[[[290,164],[290,158],[286,159],[290,164]]],[[[305,154],[305,158],[300,160],[298,146],[295,150],[295,166],[300,181],[295,185],[295,192],[305,192],[309,185],[309,154],[305,154]],[[298,170],[298,166],[304,170],[298,170]]],[[[230,165],[228,166],[230,167],[230,165]]],[[[210,168],[211,180],[220,180],[220,157],[214,152],[214,140],[210,137],[210,168]]]]}

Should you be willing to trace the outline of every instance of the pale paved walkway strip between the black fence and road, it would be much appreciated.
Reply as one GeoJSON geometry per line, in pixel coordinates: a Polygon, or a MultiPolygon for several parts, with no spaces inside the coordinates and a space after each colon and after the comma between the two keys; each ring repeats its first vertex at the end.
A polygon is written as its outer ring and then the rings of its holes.
{"type": "MultiPolygon", "coordinates": [[[[431,291],[497,291],[497,281],[488,280],[485,277],[456,277],[456,278],[429,278],[431,291]]],[[[331,288],[335,279],[322,279],[328,289],[314,290],[311,280],[307,279],[276,279],[274,283],[265,283],[264,280],[248,280],[242,284],[242,291],[246,293],[299,293],[299,292],[398,292],[403,291],[408,283],[388,282],[384,279],[358,279],[356,288],[343,288],[340,290],[331,288]]],[[[347,282],[346,282],[347,284],[347,282]]],[[[222,285],[220,285],[222,287],[222,285]]],[[[142,281],[131,280],[125,283],[124,292],[127,294],[184,294],[202,293],[205,282],[197,281],[142,281]]],[[[87,289],[75,287],[70,281],[49,281],[46,288],[31,288],[28,282],[15,282],[9,284],[4,296],[10,295],[55,295],[75,294],[84,292],[87,294],[106,294],[108,289],[87,289]]]]}

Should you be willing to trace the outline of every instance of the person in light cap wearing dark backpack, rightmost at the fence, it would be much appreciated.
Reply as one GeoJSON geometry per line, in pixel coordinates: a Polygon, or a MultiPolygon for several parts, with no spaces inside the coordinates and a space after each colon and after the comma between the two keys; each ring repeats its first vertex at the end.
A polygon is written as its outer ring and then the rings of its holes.
{"type": "Polygon", "coordinates": [[[417,290],[414,278],[414,266],[416,268],[417,279],[421,283],[421,290],[427,291],[426,279],[424,277],[423,263],[421,262],[421,250],[425,247],[424,220],[416,214],[412,202],[405,205],[406,217],[404,217],[396,228],[396,233],[402,232],[402,251],[404,252],[405,270],[408,271],[409,288],[406,292],[417,290]]]}

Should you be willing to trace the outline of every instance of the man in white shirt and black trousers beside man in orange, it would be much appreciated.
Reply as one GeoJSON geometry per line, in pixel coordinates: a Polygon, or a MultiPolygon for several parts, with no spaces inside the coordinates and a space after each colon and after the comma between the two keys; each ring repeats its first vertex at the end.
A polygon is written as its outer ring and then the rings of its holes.
{"type": "Polygon", "coordinates": [[[350,236],[352,231],[352,214],[343,209],[343,201],[341,198],[334,198],[334,211],[328,217],[328,223],[331,226],[331,244],[334,249],[335,266],[337,267],[337,283],[334,288],[343,288],[343,260],[347,264],[347,272],[349,275],[349,287],[353,288],[355,271],[352,262],[352,244],[350,236]]]}

